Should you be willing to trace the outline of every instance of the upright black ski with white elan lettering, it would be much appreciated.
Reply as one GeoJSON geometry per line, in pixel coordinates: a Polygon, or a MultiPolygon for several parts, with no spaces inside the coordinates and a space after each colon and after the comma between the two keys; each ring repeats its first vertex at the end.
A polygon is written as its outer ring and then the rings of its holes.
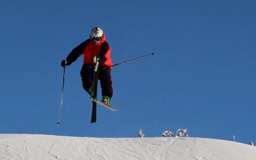
{"type": "MultiPolygon", "coordinates": [[[[94,63],[94,74],[93,74],[93,99],[97,99],[97,89],[98,89],[98,78],[99,78],[99,71],[100,71],[100,56],[95,55],[93,58],[93,63],[94,63]]],[[[96,102],[92,101],[92,119],[91,123],[96,122],[96,112],[97,112],[97,107],[96,107],[96,102]]]]}

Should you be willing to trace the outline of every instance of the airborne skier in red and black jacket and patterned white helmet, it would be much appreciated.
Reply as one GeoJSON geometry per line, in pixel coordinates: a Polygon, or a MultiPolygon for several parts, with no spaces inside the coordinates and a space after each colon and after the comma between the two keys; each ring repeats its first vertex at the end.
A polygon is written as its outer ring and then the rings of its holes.
{"type": "Polygon", "coordinates": [[[110,58],[111,49],[106,41],[105,34],[102,29],[95,27],[91,30],[90,38],[82,42],[74,48],[65,60],[62,60],[61,66],[69,66],[72,62],[76,61],[78,57],[84,55],[83,66],[80,72],[82,78],[82,85],[87,91],[91,100],[93,100],[93,57],[97,54],[100,55],[99,80],[101,85],[102,100],[101,102],[110,105],[110,99],[113,96],[113,87],[111,80],[112,61],[110,58]]]}

